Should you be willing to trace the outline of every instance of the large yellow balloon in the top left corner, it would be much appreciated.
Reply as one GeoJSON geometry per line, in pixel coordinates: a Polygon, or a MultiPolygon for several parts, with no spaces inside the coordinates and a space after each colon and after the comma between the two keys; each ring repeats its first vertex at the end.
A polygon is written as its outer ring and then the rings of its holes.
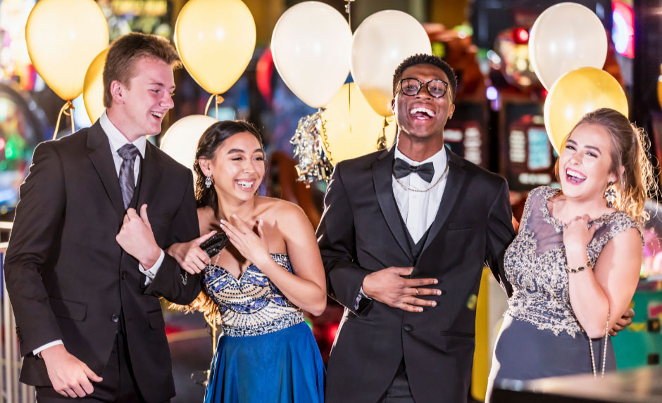
{"type": "Polygon", "coordinates": [[[71,101],[89,63],[108,47],[108,22],[93,0],[40,0],[27,18],[25,42],[44,82],[71,101]]]}

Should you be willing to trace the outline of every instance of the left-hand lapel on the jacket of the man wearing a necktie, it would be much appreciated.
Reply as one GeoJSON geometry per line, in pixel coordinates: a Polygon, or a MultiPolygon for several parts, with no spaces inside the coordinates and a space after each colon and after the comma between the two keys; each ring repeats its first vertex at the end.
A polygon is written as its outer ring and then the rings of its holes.
{"type": "Polygon", "coordinates": [[[87,131],[87,148],[89,148],[89,159],[92,160],[94,169],[96,169],[96,173],[99,174],[99,178],[101,178],[101,182],[106,188],[106,194],[111,199],[115,212],[118,217],[124,217],[124,201],[120,191],[120,180],[111,154],[111,145],[98,120],[87,131]]]}

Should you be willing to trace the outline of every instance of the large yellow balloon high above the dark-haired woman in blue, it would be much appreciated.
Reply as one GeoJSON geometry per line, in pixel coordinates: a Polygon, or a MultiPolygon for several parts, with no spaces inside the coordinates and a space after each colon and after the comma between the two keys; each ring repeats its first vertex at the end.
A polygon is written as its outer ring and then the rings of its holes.
{"type": "Polygon", "coordinates": [[[251,61],[255,21],[240,0],[191,0],[175,24],[175,46],[202,88],[223,94],[251,61]]]}

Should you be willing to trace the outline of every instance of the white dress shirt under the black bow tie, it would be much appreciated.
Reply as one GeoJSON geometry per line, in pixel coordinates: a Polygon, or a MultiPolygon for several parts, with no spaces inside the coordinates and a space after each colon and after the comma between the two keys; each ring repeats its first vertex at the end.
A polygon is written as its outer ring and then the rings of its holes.
{"type": "Polygon", "coordinates": [[[396,147],[395,158],[400,158],[409,165],[414,166],[422,165],[426,162],[432,162],[432,165],[435,167],[435,174],[432,176],[432,181],[430,181],[430,183],[421,179],[416,173],[408,174],[406,177],[398,179],[404,186],[418,190],[425,190],[430,188],[430,186],[434,186],[427,192],[407,190],[396,181],[395,177],[392,177],[393,195],[395,196],[398,210],[400,210],[400,215],[407,226],[409,235],[411,235],[411,238],[415,243],[418,243],[420,238],[423,237],[423,234],[425,234],[425,231],[427,231],[432,225],[432,222],[435,221],[437,211],[439,210],[439,203],[441,203],[442,196],[444,196],[444,188],[446,188],[448,172],[446,172],[438,184],[436,183],[446,169],[446,163],[448,160],[446,147],[443,147],[435,155],[432,155],[432,157],[421,162],[408,158],[396,147]]]}

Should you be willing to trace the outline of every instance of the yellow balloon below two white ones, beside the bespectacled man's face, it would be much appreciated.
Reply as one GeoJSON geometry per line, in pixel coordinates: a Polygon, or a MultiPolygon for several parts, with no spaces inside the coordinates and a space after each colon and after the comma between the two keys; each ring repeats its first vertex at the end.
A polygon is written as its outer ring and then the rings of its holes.
{"type": "MultiPolygon", "coordinates": [[[[334,164],[377,151],[377,138],[382,134],[384,117],[370,107],[353,82],[344,84],[326,105],[324,119],[334,164]]],[[[386,129],[387,146],[393,143],[395,127],[391,122],[386,129]]]]}

